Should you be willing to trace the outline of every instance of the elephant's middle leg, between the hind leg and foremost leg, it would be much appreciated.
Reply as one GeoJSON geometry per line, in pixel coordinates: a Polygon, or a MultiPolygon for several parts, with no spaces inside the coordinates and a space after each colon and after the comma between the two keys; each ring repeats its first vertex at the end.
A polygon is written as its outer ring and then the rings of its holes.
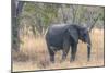
{"type": "Polygon", "coordinates": [[[65,39],[64,42],[63,42],[63,50],[62,50],[63,53],[62,53],[62,60],[61,60],[61,62],[66,59],[69,49],[70,49],[70,42],[69,42],[69,40],[65,39]]]}

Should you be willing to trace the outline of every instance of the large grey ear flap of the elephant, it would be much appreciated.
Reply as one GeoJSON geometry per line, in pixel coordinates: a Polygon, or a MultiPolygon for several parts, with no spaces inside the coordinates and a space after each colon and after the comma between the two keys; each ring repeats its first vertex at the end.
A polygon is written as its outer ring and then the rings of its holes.
{"type": "Polygon", "coordinates": [[[78,42],[78,32],[75,28],[69,28],[70,36],[75,42],[78,42]]]}

